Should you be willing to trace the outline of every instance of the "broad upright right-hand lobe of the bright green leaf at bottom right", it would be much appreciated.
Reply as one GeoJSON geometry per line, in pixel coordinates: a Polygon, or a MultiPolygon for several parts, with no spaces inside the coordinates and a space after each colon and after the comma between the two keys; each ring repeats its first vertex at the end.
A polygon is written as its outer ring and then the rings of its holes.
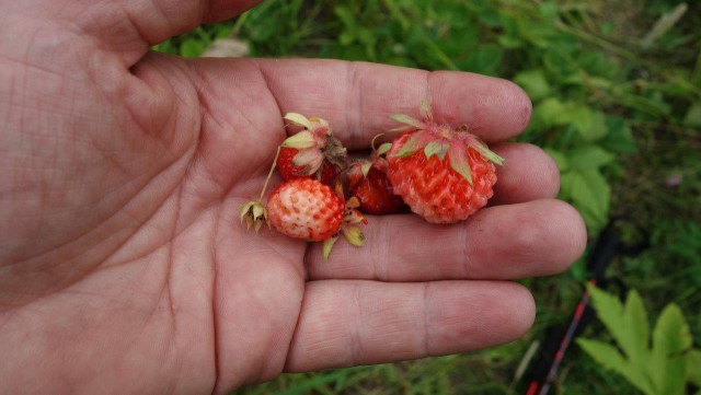
{"type": "Polygon", "coordinates": [[[687,375],[683,351],[691,347],[689,326],[681,310],[671,303],[653,330],[651,377],[659,394],[682,395],[687,375]]]}

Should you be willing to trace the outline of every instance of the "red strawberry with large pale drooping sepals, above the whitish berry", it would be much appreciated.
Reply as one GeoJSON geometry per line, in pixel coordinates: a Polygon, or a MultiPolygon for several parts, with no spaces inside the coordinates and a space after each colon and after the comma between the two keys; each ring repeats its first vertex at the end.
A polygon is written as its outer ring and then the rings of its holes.
{"type": "Polygon", "coordinates": [[[314,177],[331,185],[345,167],[346,149],[332,136],[329,123],[297,113],[288,113],[285,119],[304,129],[280,146],[276,163],[283,179],[314,177]]]}

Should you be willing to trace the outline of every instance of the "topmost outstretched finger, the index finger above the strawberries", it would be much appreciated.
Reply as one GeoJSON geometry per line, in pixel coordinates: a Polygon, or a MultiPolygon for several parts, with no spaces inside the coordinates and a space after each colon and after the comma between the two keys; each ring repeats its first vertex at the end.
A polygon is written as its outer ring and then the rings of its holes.
{"type": "Polygon", "coordinates": [[[468,125],[487,142],[520,133],[531,103],[516,84],[459,71],[425,71],[338,60],[260,61],[280,112],[325,118],[348,148],[367,148],[374,136],[399,126],[391,114],[420,118],[422,100],[437,121],[468,125]]]}

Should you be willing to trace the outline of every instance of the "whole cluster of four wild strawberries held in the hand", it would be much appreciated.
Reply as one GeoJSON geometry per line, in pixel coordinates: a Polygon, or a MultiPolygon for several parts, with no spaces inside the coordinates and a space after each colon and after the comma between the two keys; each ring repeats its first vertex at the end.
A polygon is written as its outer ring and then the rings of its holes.
{"type": "Polygon", "coordinates": [[[300,240],[323,242],[323,256],[343,234],[355,246],[364,244],[358,226],[363,213],[389,214],[405,210],[432,223],[455,223],[484,207],[496,183],[494,164],[504,159],[492,152],[467,126],[436,123],[430,105],[421,106],[422,120],[392,115],[403,124],[392,142],[375,147],[368,159],[352,160],[324,119],[297,113],[285,119],[302,130],[278,147],[258,200],[241,208],[241,220],[257,232],[263,222],[300,240]],[[264,196],[274,170],[284,183],[264,196]]]}

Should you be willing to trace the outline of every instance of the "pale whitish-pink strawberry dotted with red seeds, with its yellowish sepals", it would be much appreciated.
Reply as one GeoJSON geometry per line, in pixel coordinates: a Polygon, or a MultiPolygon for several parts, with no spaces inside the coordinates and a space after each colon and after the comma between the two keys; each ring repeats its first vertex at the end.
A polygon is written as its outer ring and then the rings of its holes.
{"type": "Polygon", "coordinates": [[[342,191],[313,178],[286,181],[268,197],[265,216],[278,232],[312,242],[324,242],[329,256],[338,233],[353,245],[363,245],[363,232],[355,224],[365,222],[355,210],[357,200],[344,202],[342,191]]]}

